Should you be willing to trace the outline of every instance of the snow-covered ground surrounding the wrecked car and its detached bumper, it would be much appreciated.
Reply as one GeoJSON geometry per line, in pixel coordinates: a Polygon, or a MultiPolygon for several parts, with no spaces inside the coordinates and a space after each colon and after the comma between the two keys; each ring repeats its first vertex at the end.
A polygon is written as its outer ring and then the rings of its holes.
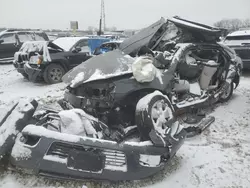
{"type": "MultiPolygon", "coordinates": [[[[65,85],[30,83],[12,65],[0,66],[0,108],[24,97],[62,96],[65,85]]],[[[44,100],[42,100],[44,101],[44,100]]],[[[46,101],[45,101],[46,102],[46,101]]],[[[49,180],[3,171],[0,188],[77,188],[77,187],[148,187],[148,188],[249,188],[250,187],[250,76],[245,75],[233,99],[212,112],[216,121],[203,135],[189,139],[169,166],[152,178],[119,183],[94,183],[49,180]]]]}

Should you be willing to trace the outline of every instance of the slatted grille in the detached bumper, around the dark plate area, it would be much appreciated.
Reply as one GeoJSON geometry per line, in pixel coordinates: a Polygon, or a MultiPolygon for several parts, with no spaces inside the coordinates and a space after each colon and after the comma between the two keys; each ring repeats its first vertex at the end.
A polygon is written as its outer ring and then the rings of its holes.
{"type": "Polygon", "coordinates": [[[101,149],[101,148],[90,148],[87,146],[69,145],[65,143],[55,142],[49,148],[47,155],[54,155],[60,158],[68,158],[69,153],[72,149],[79,151],[86,151],[91,149],[99,149],[105,155],[105,169],[108,170],[119,170],[127,171],[126,156],[122,151],[101,149]]]}

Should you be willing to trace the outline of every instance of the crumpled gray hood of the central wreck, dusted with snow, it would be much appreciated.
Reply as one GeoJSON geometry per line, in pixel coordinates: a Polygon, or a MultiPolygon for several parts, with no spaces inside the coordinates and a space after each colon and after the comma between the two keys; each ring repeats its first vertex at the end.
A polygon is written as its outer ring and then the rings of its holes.
{"type": "Polygon", "coordinates": [[[75,88],[80,84],[132,73],[134,58],[120,50],[94,56],[66,73],[62,80],[75,88]]]}

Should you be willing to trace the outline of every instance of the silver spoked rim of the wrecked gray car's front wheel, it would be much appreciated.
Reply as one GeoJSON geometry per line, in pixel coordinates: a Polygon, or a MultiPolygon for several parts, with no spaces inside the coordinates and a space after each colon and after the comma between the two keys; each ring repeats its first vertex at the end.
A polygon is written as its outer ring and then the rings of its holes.
{"type": "Polygon", "coordinates": [[[167,122],[173,118],[172,109],[164,100],[156,101],[151,110],[151,119],[156,131],[160,134],[165,134],[167,129],[167,122]]]}

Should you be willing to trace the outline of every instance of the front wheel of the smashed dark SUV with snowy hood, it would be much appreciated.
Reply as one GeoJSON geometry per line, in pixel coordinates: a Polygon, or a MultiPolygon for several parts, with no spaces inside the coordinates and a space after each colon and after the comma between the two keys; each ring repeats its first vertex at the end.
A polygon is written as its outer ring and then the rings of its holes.
{"type": "Polygon", "coordinates": [[[50,64],[45,68],[43,78],[48,84],[56,84],[62,81],[64,74],[65,70],[61,65],[50,64]]]}

